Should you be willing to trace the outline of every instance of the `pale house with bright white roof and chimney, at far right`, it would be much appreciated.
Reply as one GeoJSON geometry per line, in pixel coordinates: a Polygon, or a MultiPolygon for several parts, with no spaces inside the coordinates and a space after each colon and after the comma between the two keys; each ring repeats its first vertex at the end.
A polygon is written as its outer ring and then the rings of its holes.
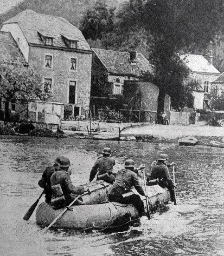
{"type": "Polygon", "coordinates": [[[213,56],[209,56],[206,60],[204,56],[197,54],[184,54],[180,59],[189,68],[190,74],[186,80],[197,81],[199,87],[193,92],[193,107],[196,109],[206,109],[209,106],[209,94],[211,92],[211,84],[214,82],[220,72],[212,65],[213,56]]]}

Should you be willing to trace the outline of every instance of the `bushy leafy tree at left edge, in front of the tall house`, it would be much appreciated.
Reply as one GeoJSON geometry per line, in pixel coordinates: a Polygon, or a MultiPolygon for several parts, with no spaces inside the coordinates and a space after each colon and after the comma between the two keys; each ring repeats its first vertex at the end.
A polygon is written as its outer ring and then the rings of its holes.
{"type": "Polygon", "coordinates": [[[47,85],[32,69],[0,61],[0,98],[5,99],[5,122],[9,121],[9,102],[45,101],[51,97],[47,85]]]}

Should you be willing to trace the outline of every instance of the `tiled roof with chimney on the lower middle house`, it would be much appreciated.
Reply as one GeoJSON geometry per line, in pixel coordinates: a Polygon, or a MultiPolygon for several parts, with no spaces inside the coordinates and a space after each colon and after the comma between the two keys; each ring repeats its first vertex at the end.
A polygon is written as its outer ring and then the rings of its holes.
{"type": "Polygon", "coordinates": [[[92,48],[109,73],[139,76],[143,71],[153,72],[149,61],[141,54],[136,54],[136,65],[131,64],[130,53],[92,48]]]}

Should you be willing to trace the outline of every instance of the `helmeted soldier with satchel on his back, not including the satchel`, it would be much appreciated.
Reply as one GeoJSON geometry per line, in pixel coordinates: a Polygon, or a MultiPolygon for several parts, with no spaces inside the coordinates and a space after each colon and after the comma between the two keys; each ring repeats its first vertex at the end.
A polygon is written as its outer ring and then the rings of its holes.
{"type": "MultiPolygon", "coordinates": [[[[60,184],[63,195],[65,197],[65,204],[69,205],[77,195],[83,194],[85,191],[88,190],[86,186],[74,186],[71,182],[71,171],[69,170],[70,167],[70,160],[67,157],[61,157],[60,161],[58,162],[58,166],[60,170],[54,172],[51,176],[51,188],[55,185],[60,184]]],[[[57,197],[57,195],[53,195],[57,197]]]]}

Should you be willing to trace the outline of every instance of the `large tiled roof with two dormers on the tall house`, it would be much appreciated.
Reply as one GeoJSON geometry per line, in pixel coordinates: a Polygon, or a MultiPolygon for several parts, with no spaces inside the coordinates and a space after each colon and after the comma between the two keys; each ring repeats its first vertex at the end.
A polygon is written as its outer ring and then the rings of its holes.
{"type": "Polygon", "coordinates": [[[40,34],[46,37],[55,38],[54,46],[66,47],[62,35],[69,40],[76,40],[77,48],[91,50],[82,32],[62,17],[36,13],[32,10],[25,10],[4,24],[18,23],[28,43],[44,45],[40,34]],[[39,33],[39,34],[38,34],[39,33]]]}

